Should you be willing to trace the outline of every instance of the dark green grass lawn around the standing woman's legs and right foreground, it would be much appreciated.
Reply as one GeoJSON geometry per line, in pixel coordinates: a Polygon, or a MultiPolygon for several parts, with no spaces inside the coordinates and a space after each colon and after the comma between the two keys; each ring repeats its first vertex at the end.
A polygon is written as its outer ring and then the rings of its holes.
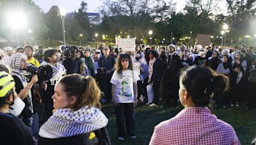
{"type": "MultiPolygon", "coordinates": [[[[154,131],[154,127],[163,120],[168,120],[182,110],[182,106],[173,107],[148,107],[139,105],[135,109],[135,134],[136,141],[116,140],[116,117],[112,104],[102,106],[102,111],[109,119],[108,132],[112,144],[148,144],[154,131]]],[[[232,125],[239,137],[241,144],[250,144],[253,137],[256,137],[256,109],[246,109],[245,107],[227,107],[213,109],[212,113],[218,118],[232,125]]]]}

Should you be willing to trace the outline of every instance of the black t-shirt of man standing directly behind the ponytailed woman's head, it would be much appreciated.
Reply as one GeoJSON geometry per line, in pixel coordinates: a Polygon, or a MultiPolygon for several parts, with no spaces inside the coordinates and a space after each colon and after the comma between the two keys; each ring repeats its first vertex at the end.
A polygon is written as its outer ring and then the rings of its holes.
{"type": "Polygon", "coordinates": [[[67,69],[67,74],[79,74],[81,64],[83,64],[83,61],[79,58],[76,58],[75,60],[66,59],[63,62],[63,66],[67,69]]]}

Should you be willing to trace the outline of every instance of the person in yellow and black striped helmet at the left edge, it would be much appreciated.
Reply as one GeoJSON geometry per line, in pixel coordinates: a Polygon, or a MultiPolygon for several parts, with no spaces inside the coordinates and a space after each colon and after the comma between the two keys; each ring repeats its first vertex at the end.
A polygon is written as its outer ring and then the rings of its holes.
{"type": "Polygon", "coordinates": [[[9,112],[10,105],[17,97],[14,79],[7,72],[1,71],[0,82],[0,144],[33,144],[30,129],[9,112]]]}

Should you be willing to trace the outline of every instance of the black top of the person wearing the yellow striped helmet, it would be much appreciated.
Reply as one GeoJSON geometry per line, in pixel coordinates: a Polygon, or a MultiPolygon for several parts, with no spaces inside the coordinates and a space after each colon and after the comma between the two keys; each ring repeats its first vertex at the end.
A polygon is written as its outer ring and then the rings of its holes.
{"type": "Polygon", "coordinates": [[[33,144],[31,130],[10,113],[0,113],[0,144],[33,144]]]}

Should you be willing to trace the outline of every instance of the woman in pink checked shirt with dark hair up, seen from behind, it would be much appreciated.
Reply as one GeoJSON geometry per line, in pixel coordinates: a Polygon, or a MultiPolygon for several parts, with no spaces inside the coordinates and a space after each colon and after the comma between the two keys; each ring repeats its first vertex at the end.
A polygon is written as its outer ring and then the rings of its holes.
{"type": "Polygon", "coordinates": [[[227,76],[207,67],[188,67],[180,75],[179,99],[185,108],[159,123],[149,144],[240,144],[234,128],[207,108],[212,95],[227,88],[227,76]]]}

